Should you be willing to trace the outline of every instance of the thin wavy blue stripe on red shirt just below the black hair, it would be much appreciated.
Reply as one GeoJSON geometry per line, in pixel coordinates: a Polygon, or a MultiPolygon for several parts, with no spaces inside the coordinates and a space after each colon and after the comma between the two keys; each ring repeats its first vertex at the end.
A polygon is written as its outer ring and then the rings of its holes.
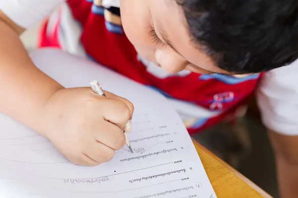
{"type": "Polygon", "coordinates": [[[214,79],[214,80],[218,80],[218,81],[224,82],[229,85],[235,85],[235,84],[243,83],[243,82],[249,81],[249,80],[256,80],[259,76],[260,76],[259,74],[252,74],[252,75],[245,76],[242,78],[236,78],[233,76],[226,76],[223,74],[202,74],[199,77],[199,80],[206,81],[206,80],[214,79]]]}

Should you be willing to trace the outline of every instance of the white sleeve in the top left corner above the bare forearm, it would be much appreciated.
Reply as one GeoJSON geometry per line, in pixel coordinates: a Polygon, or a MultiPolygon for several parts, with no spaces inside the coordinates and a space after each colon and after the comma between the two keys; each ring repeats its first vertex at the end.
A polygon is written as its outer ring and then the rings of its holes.
{"type": "Polygon", "coordinates": [[[65,0],[0,0],[0,9],[14,23],[30,28],[65,0]]]}

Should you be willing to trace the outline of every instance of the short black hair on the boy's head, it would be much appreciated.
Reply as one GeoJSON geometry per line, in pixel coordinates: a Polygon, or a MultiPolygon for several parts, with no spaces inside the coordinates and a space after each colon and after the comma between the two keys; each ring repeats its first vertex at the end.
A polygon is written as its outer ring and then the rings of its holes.
{"type": "Polygon", "coordinates": [[[192,39],[215,64],[258,73],[298,58],[298,0],[177,0],[192,39]]]}

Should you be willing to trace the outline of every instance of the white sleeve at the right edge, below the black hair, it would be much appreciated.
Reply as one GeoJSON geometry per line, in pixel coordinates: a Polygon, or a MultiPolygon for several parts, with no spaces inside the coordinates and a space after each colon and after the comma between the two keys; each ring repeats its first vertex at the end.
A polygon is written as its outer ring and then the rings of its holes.
{"type": "Polygon", "coordinates": [[[257,90],[264,125],[283,135],[298,135],[298,60],[264,75],[257,90]]]}

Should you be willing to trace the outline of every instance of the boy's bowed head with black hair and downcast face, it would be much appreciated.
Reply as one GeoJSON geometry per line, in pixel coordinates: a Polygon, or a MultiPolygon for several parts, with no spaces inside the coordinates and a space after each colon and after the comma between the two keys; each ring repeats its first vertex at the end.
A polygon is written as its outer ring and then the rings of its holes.
{"type": "Polygon", "coordinates": [[[297,0],[120,2],[128,39],[169,73],[259,73],[298,58],[297,0]]]}

